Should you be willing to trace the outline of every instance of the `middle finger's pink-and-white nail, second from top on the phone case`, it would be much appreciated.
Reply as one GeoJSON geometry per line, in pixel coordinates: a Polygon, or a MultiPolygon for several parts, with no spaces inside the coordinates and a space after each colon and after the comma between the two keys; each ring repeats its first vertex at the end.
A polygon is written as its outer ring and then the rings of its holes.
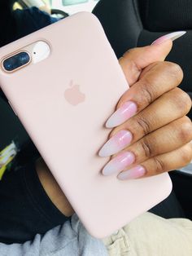
{"type": "Polygon", "coordinates": [[[100,157],[109,157],[129,145],[133,136],[128,130],[120,130],[116,135],[103,145],[103,148],[98,152],[100,157]]]}

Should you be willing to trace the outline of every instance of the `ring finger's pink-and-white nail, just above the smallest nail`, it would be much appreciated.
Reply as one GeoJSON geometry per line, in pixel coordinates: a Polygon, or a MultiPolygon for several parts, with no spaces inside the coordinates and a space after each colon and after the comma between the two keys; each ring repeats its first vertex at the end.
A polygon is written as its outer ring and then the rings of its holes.
{"type": "Polygon", "coordinates": [[[122,152],[107,163],[103,168],[103,175],[107,176],[120,172],[121,170],[124,170],[124,168],[132,165],[134,161],[135,157],[132,152],[122,152]]]}

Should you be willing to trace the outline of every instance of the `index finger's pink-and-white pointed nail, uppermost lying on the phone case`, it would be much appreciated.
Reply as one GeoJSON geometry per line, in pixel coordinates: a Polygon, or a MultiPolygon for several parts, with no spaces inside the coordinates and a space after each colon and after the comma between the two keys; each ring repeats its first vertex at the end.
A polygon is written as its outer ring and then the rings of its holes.
{"type": "Polygon", "coordinates": [[[115,113],[109,117],[106,123],[107,128],[120,126],[124,121],[133,117],[137,113],[137,105],[133,101],[124,103],[115,113]]]}

